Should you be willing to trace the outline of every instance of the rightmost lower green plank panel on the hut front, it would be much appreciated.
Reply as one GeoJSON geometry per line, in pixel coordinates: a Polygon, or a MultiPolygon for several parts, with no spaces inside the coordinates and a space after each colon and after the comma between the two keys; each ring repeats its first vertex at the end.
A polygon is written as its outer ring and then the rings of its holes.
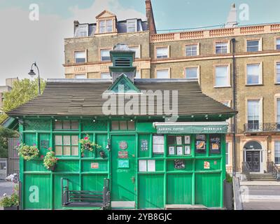
{"type": "Polygon", "coordinates": [[[196,204],[221,207],[221,173],[196,174],[196,204]]]}

